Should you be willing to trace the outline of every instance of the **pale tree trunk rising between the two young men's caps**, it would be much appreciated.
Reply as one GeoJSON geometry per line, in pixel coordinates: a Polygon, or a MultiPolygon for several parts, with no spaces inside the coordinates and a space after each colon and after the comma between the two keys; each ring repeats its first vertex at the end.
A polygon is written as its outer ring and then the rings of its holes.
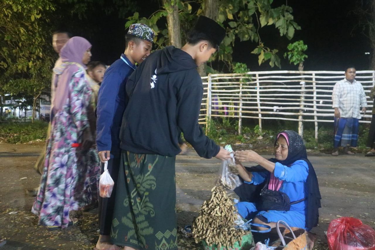
{"type": "Polygon", "coordinates": [[[176,48],[181,48],[180,17],[178,16],[177,3],[173,4],[170,0],[163,0],[163,6],[168,12],[166,21],[168,24],[169,44],[176,48]]]}

